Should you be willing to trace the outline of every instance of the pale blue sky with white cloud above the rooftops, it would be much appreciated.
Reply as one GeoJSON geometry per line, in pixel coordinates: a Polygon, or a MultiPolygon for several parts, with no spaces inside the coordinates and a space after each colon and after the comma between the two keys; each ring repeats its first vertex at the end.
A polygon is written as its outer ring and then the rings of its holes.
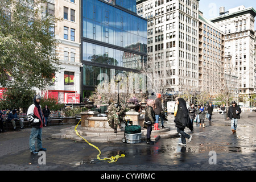
{"type": "MultiPolygon", "coordinates": [[[[220,7],[224,6],[225,11],[237,6],[253,7],[256,10],[255,0],[200,0],[199,10],[203,12],[203,16],[212,19],[220,15],[220,7]]],[[[256,25],[256,22],[255,22],[256,25]]]]}

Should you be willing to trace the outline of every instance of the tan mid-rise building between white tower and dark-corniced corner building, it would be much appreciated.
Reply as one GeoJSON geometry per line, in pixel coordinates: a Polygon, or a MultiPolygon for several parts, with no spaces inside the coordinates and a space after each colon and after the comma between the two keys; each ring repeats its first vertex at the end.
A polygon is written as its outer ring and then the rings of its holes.
{"type": "Polygon", "coordinates": [[[225,77],[224,33],[199,11],[199,90],[217,96],[225,77]]]}

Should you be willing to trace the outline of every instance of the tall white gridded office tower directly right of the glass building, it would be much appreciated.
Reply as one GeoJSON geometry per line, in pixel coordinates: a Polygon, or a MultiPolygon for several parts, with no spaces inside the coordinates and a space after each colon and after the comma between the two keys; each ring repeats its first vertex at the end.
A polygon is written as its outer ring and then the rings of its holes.
{"type": "Polygon", "coordinates": [[[163,92],[199,88],[199,1],[138,0],[147,18],[147,63],[165,84],[163,92]]]}

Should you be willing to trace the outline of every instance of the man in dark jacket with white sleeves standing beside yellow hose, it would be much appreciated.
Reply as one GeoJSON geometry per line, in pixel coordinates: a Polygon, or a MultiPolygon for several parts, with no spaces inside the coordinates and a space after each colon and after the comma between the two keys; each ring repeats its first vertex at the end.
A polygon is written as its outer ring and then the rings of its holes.
{"type": "Polygon", "coordinates": [[[38,151],[46,151],[46,148],[42,147],[42,128],[44,123],[43,111],[40,106],[41,97],[36,95],[34,97],[34,104],[28,107],[27,120],[30,122],[32,127],[30,133],[30,153],[38,154],[38,151]],[[35,141],[36,148],[35,150],[35,141]]]}

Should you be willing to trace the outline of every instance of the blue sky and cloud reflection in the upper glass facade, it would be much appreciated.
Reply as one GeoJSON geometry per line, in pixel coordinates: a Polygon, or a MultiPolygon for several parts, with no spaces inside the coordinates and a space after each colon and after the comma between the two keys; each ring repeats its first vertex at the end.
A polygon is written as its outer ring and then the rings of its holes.
{"type": "MultiPolygon", "coordinates": [[[[130,7],[134,2],[116,1],[116,5],[130,7]]],[[[84,0],[82,6],[83,37],[119,47],[147,44],[147,20],[101,1],[84,0]]]]}

